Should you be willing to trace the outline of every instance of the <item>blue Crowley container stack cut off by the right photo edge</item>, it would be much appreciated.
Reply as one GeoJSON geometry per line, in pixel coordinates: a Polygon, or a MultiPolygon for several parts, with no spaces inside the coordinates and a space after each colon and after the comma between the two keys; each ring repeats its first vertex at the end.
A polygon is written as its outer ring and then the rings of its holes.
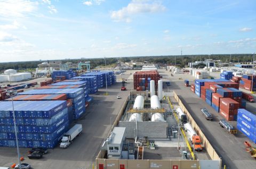
{"type": "Polygon", "coordinates": [[[238,109],[237,129],[253,143],[256,143],[256,115],[246,111],[246,109],[238,109]]]}

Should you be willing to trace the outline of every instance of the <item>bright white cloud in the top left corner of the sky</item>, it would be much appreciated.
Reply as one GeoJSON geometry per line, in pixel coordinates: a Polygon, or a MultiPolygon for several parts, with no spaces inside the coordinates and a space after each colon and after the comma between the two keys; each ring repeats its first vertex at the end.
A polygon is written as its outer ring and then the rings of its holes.
{"type": "Polygon", "coordinates": [[[22,17],[34,12],[38,2],[28,0],[2,0],[0,1],[0,16],[22,17]]]}

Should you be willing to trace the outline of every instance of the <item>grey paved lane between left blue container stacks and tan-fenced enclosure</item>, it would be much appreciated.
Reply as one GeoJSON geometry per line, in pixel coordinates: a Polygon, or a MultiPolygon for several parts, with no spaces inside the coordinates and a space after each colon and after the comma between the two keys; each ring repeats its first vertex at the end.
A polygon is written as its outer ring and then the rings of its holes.
{"type": "MultiPolygon", "coordinates": [[[[129,74],[124,74],[127,78],[129,74]]],[[[127,88],[133,87],[132,81],[127,81],[127,88]]],[[[86,115],[75,121],[83,125],[81,136],[77,137],[67,149],[56,147],[49,149],[49,153],[42,159],[28,159],[28,148],[20,148],[21,156],[25,158],[24,163],[28,163],[32,168],[92,168],[102,140],[107,137],[110,131],[110,122],[113,123],[124,98],[129,95],[129,90],[121,91],[121,83],[108,87],[108,96],[105,96],[106,88],[101,88],[97,94],[91,95],[93,102],[86,108],[86,115]],[[116,96],[121,96],[117,99],[116,96]]],[[[14,107],[15,108],[15,107],[14,107]]],[[[70,126],[70,127],[71,127],[70,126]]],[[[18,162],[17,148],[0,148],[0,166],[10,167],[18,162]]]]}

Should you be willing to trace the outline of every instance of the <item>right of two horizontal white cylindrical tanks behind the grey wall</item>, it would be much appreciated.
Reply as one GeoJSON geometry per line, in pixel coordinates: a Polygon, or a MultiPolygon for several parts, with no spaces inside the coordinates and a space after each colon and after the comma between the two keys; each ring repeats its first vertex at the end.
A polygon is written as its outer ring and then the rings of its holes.
{"type": "MultiPolygon", "coordinates": [[[[151,106],[151,109],[159,109],[159,108],[161,108],[161,104],[160,104],[158,96],[156,96],[156,95],[151,96],[151,98],[150,98],[150,106],[151,106]]],[[[163,116],[162,113],[152,113],[151,121],[152,122],[162,122],[162,121],[164,121],[164,116],[163,116]]]]}

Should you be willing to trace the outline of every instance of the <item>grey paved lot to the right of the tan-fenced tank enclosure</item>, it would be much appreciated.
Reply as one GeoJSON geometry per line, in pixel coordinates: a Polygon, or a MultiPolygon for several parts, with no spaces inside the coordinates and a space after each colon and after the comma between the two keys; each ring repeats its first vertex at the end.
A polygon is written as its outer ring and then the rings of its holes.
{"type": "MultiPolygon", "coordinates": [[[[222,165],[227,165],[227,168],[255,168],[256,161],[245,151],[244,141],[249,140],[244,134],[238,131],[238,134],[230,134],[224,128],[219,125],[219,120],[223,119],[219,113],[207,105],[201,98],[194,94],[190,87],[184,86],[184,79],[193,82],[194,78],[188,74],[173,74],[165,70],[159,70],[159,73],[163,75],[163,80],[171,81],[171,86],[164,86],[166,90],[174,90],[182,100],[182,103],[186,106],[190,114],[193,116],[196,123],[199,125],[207,139],[211,142],[213,148],[222,157],[222,165]],[[179,80],[179,78],[182,78],[179,80]],[[206,121],[201,108],[206,107],[213,115],[213,121],[206,121]]],[[[194,82],[193,82],[194,83],[194,82]]],[[[246,103],[247,104],[247,103],[246,103]]],[[[255,103],[249,104],[250,109],[255,111],[255,103]]],[[[236,126],[236,122],[231,122],[236,126]]]]}

